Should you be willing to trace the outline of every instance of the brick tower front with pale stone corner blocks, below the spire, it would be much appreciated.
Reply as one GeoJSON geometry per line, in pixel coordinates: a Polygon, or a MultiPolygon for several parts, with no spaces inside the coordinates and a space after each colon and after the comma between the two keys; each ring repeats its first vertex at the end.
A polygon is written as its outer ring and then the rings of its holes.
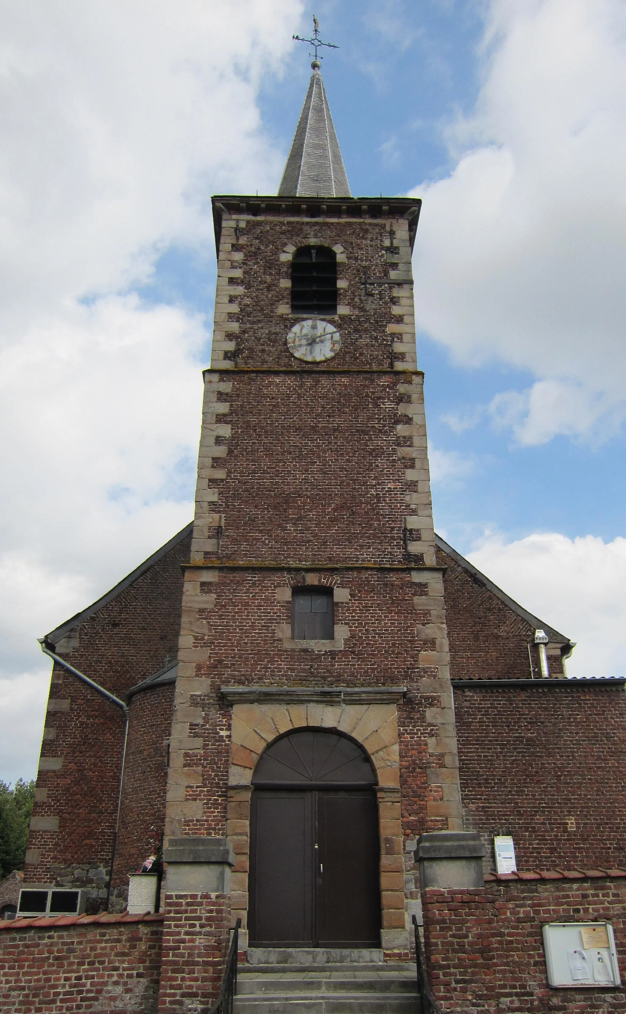
{"type": "MultiPolygon", "coordinates": [[[[282,687],[286,714],[295,704],[290,687],[315,697],[332,686],[405,686],[394,706],[399,741],[382,744],[385,765],[374,762],[379,788],[397,793],[385,800],[394,818],[380,823],[382,883],[403,873],[403,837],[462,826],[423,378],[415,368],[410,222],[419,209],[408,201],[395,213],[348,201],[295,209],[265,199],[257,216],[232,204],[214,202],[216,331],[183,591],[165,839],[225,837],[229,789],[231,803],[247,802],[237,770],[252,753],[231,736],[224,686],[282,687]],[[340,276],[342,347],[321,364],[294,359],[285,344],[299,319],[288,302],[291,256],[316,243],[335,250],[340,276]],[[365,271],[390,284],[365,293],[365,271]],[[293,640],[294,584],[342,593],[332,641],[293,640]],[[384,835],[384,823],[397,836],[384,835]]],[[[328,728],[339,728],[336,711],[329,709],[328,728]]],[[[304,724],[312,724],[306,714],[304,724]]],[[[237,845],[242,886],[249,857],[244,839],[237,845]]],[[[382,891],[390,959],[409,953],[414,890],[410,856],[406,894],[382,891]]],[[[247,898],[236,893],[245,947],[247,898]]]]}

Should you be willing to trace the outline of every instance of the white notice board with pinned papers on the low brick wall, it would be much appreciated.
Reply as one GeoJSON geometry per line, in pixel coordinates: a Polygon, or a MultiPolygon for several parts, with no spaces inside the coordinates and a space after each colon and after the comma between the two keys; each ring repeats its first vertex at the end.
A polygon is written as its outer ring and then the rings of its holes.
{"type": "Polygon", "coordinates": [[[548,923],[543,932],[550,986],[606,990],[620,985],[611,923],[548,923]]]}

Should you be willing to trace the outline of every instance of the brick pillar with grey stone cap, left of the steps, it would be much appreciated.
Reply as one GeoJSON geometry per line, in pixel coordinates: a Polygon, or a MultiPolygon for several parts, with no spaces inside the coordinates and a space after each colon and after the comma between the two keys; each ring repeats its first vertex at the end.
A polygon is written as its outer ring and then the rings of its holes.
{"type": "Polygon", "coordinates": [[[230,867],[224,838],[170,838],[159,1014],[190,1014],[219,993],[230,929],[230,867]]]}

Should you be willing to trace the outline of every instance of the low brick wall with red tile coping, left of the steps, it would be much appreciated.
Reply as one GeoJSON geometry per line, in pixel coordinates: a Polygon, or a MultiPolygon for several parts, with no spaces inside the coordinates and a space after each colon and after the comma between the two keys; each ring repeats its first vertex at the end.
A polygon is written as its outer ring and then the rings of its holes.
{"type": "Polygon", "coordinates": [[[0,924],[2,1014],[153,1014],[162,916],[0,924]]]}

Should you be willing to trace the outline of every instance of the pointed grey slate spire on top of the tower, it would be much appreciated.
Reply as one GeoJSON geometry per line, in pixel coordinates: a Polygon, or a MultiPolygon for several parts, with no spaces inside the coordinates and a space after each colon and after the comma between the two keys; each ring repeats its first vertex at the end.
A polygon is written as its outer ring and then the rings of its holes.
{"type": "Polygon", "coordinates": [[[322,74],[314,70],[279,197],[350,197],[322,74]]]}

